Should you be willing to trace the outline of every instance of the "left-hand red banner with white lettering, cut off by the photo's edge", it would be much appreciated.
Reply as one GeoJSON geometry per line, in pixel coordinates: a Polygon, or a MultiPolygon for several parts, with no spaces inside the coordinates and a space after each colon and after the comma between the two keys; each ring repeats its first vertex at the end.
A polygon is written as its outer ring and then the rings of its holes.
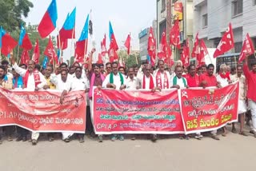
{"type": "Polygon", "coordinates": [[[66,95],[59,92],[9,91],[0,88],[0,126],[19,125],[35,132],[84,133],[86,98],[83,91],[66,95]]]}

